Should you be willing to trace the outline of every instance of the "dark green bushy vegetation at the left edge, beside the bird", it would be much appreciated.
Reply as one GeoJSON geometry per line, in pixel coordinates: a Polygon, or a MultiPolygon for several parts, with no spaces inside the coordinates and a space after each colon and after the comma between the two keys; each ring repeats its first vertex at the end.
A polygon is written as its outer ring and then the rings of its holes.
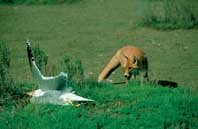
{"type": "Polygon", "coordinates": [[[15,105],[23,98],[22,85],[13,81],[10,75],[11,53],[6,43],[0,41],[0,107],[15,105]]]}

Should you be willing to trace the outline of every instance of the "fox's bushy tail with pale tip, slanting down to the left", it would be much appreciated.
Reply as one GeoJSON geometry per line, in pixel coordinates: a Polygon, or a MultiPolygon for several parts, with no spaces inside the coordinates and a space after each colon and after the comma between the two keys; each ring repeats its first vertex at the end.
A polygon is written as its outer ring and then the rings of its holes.
{"type": "Polygon", "coordinates": [[[102,72],[98,76],[98,82],[103,81],[106,79],[111,73],[118,67],[120,66],[120,61],[118,58],[118,55],[114,55],[109,63],[105,66],[105,68],[102,70],[102,72]]]}

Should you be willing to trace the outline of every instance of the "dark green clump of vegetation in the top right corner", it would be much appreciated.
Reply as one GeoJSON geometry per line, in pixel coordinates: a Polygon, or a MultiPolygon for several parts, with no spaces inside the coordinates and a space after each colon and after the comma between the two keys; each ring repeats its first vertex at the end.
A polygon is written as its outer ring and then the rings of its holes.
{"type": "Polygon", "coordinates": [[[142,23],[157,29],[190,29],[198,25],[198,1],[145,1],[142,23]]]}

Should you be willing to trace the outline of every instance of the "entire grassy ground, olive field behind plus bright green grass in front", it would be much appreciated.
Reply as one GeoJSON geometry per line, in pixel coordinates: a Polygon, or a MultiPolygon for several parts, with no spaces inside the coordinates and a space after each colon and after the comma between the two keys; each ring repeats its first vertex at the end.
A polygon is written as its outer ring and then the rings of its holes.
{"type": "MultiPolygon", "coordinates": [[[[163,88],[135,82],[90,83],[76,88],[95,104],[76,107],[28,104],[0,112],[0,128],[194,128],[198,127],[198,29],[159,30],[140,26],[142,0],[83,0],[61,5],[0,5],[0,40],[11,49],[16,82],[32,83],[26,39],[39,44],[62,70],[64,54],[80,59],[85,77],[97,79],[117,49],[142,48],[149,59],[151,80],[178,82],[163,88]],[[94,86],[97,85],[97,86],[94,86]],[[92,87],[93,86],[93,87],[92,87]],[[78,120],[76,120],[78,119],[78,120]],[[89,126],[87,126],[89,125],[89,126]]],[[[124,80],[121,69],[110,77],[124,80]]]]}

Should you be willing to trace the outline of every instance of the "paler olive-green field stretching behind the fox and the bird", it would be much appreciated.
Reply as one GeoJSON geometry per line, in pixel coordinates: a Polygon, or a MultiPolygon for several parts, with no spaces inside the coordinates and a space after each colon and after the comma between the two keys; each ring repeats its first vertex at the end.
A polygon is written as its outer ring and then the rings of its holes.
{"type": "MultiPolygon", "coordinates": [[[[51,64],[58,66],[66,53],[82,60],[86,76],[94,79],[118,48],[135,45],[149,58],[151,79],[197,87],[198,30],[160,31],[138,26],[141,5],[135,0],[1,5],[0,35],[12,49],[13,75],[19,81],[31,79],[25,50],[29,38],[48,54],[51,64]]],[[[118,70],[112,78],[119,81],[121,75],[118,70]]]]}

